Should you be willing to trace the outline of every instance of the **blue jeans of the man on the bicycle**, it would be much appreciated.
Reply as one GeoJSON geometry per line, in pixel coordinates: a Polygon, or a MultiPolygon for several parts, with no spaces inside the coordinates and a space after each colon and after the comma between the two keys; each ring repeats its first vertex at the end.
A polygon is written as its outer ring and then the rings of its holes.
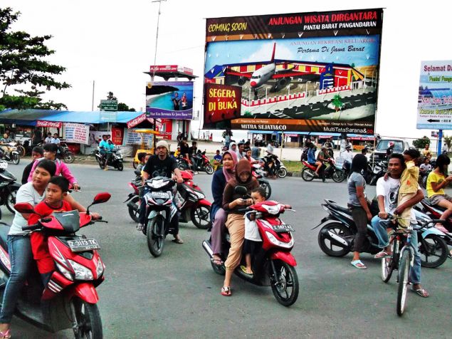
{"type": "MultiPolygon", "coordinates": [[[[371,224],[379,242],[378,246],[384,249],[384,247],[389,245],[389,237],[386,229],[391,224],[389,224],[389,221],[380,219],[378,216],[372,218],[371,224]]],[[[411,248],[413,249],[414,262],[413,267],[410,269],[410,281],[411,283],[421,283],[421,256],[419,256],[417,231],[411,233],[411,248]]]]}

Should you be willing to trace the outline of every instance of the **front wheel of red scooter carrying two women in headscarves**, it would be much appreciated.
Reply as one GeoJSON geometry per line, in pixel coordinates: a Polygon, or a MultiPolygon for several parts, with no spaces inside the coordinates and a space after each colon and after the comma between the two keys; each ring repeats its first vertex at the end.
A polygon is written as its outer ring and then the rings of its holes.
{"type": "Polygon", "coordinates": [[[283,306],[293,305],[297,301],[300,289],[297,271],[295,271],[293,266],[282,260],[273,260],[273,266],[275,267],[275,272],[270,276],[273,296],[283,306]]]}

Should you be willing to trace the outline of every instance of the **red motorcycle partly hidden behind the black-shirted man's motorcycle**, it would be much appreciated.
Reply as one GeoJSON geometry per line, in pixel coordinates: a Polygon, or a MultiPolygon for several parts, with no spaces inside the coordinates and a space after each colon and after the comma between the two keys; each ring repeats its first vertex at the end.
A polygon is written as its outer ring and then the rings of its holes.
{"type": "MultiPolygon", "coordinates": [[[[179,221],[184,223],[191,221],[199,229],[209,229],[211,226],[211,202],[206,200],[206,195],[202,192],[201,187],[193,182],[193,172],[181,171],[181,174],[184,182],[177,187],[178,197],[180,196],[178,208],[181,212],[179,221]]],[[[140,222],[140,197],[138,194],[140,184],[141,182],[135,180],[129,183],[133,192],[125,201],[128,202],[129,215],[135,222],[140,222]]]]}

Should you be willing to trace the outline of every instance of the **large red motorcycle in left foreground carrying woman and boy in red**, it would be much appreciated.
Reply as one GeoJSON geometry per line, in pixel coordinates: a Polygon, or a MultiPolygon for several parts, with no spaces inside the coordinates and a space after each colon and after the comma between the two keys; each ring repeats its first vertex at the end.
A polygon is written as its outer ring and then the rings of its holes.
{"type": "MultiPolygon", "coordinates": [[[[109,193],[99,193],[91,205],[108,199],[109,193]]],[[[28,203],[16,204],[14,208],[20,213],[35,213],[28,203]]],[[[75,338],[103,338],[97,306],[99,296],[95,290],[104,281],[105,265],[97,251],[100,246],[95,239],[75,234],[80,227],[94,223],[88,207],[86,213],[56,212],[40,219],[37,224],[23,227],[23,230],[48,233],[48,250],[55,261],[56,271],[53,271],[47,286],[43,286],[34,265],[33,274],[23,288],[24,293],[19,295],[15,311],[18,317],[51,333],[72,328],[75,338]]],[[[8,231],[9,226],[0,225],[2,286],[11,273],[6,246],[8,231]]]]}

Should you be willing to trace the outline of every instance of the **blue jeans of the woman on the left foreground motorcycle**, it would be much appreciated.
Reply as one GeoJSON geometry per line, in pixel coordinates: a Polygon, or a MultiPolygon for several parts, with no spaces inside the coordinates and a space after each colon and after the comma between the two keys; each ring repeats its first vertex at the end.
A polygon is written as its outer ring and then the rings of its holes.
{"type": "Polygon", "coordinates": [[[11,323],[19,293],[33,263],[29,236],[8,236],[8,252],[11,260],[11,275],[3,296],[0,323],[11,323]]]}

